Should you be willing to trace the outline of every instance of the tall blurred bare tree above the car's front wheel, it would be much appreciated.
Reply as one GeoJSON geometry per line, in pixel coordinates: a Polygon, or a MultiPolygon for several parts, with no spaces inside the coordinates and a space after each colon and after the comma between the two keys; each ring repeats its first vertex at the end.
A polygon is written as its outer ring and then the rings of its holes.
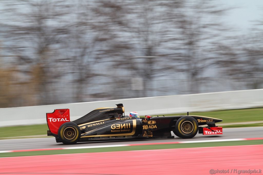
{"type": "Polygon", "coordinates": [[[172,50],[169,69],[186,76],[188,93],[199,93],[199,85],[209,80],[210,75],[205,75],[205,71],[215,65],[217,45],[227,30],[219,20],[225,11],[216,1],[184,1],[178,9],[179,17],[172,21],[179,32],[177,40],[167,43],[172,50]]]}

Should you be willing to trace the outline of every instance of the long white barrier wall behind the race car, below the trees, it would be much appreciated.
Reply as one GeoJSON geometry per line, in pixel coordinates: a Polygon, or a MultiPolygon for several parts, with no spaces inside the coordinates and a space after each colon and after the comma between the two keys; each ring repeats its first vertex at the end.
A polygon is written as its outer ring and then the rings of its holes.
{"type": "Polygon", "coordinates": [[[94,109],[114,107],[118,103],[123,103],[126,115],[136,111],[140,116],[263,107],[263,89],[1,108],[0,127],[44,124],[46,113],[54,109],[70,109],[70,120],[73,121],[94,109]]]}

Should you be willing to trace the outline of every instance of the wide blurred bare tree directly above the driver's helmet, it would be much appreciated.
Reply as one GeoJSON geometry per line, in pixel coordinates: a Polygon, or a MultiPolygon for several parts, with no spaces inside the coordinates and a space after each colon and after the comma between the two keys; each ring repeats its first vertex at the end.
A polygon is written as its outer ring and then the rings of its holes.
{"type": "MultiPolygon", "coordinates": [[[[102,19],[103,28],[114,33],[107,54],[117,58],[115,69],[129,70],[126,84],[131,89],[132,78],[142,79],[142,90],[135,96],[151,96],[152,80],[165,75],[161,67],[164,61],[161,47],[169,40],[175,40],[174,29],[170,28],[171,18],[178,18],[177,8],[181,1],[98,1],[97,18],[102,19]],[[173,6],[171,6],[171,3],[173,6]]],[[[117,87],[116,87],[117,88],[117,87]]],[[[130,92],[131,93],[131,92],[130,92]]]]}

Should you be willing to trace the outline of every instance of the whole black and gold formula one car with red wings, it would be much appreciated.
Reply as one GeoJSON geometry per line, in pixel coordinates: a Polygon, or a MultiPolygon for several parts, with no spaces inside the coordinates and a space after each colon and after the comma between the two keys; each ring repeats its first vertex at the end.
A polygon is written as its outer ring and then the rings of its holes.
{"type": "Polygon", "coordinates": [[[117,107],[98,108],[70,122],[69,109],[56,109],[47,113],[48,136],[57,142],[74,144],[92,140],[174,138],[171,131],[181,138],[192,138],[197,132],[203,135],[222,134],[222,127],[215,126],[220,119],[211,117],[182,116],[125,116],[123,104],[117,107]],[[206,127],[200,127],[207,125],[206,127]]]}

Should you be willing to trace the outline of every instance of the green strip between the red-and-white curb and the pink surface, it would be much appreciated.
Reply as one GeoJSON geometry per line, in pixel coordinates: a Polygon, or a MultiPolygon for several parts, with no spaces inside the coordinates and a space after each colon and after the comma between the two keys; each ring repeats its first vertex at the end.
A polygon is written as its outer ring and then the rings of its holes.
{"type": "Polygon", "coordinates": [[[72,149],[72,150],[11,152],[11,153],[0,153],[0,157],[37,156],[37,155],[111,152],[111,151],[156,150],[156,149],[214,147],[214,146],[262,145],[262,144],[263,144],[263,140],[224,141],[224,142],[205,142],[205,143],[176,143],[176,144],[122,146],[122,147],[106,147],[106,148],[83,148],[83,149],[72,149]]]}

